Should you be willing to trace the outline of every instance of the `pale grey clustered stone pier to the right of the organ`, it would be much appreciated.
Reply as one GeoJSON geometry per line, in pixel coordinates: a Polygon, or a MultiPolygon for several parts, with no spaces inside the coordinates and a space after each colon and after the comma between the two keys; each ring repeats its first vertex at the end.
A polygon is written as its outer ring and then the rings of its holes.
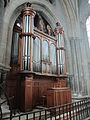
{"type": "Polygon", "coordinates": [[[89,71],[86,46],[82,39],[79,38],[71,38],[70,43],[73,64],[73,92],[81,96],[87,95],[89,71]]]}

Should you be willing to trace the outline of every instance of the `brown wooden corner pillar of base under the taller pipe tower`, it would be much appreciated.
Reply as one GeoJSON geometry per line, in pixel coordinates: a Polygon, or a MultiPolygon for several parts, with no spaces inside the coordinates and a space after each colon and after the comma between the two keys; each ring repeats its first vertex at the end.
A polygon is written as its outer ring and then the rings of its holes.
{"type": "Polygon", "coordinates": [[[32,110],[32,79],[31,77],[25,77],[21,81],[21,111],[32,110]]]}

